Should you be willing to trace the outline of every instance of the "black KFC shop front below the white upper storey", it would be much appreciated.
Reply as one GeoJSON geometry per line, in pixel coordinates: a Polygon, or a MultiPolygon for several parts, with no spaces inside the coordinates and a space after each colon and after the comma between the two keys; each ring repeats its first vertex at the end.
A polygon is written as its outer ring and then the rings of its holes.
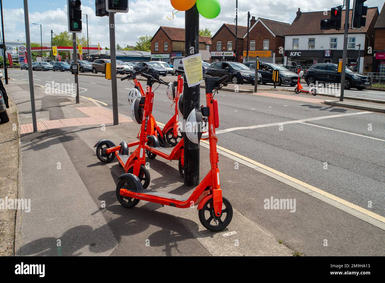
{"type": "MultiPolygon", "coordinates": [[[[363,55],[360,54],[360,69],[363,69],[363,55]]],[[[333,63],[338,64],[342,58],[342,50],[286,50],[284,65],[294,65],[293,62],[301,66],[302,70],[309,69],[314,64],[333,63]]],[[[358,50],[348,50],[347,66],[357,71],[358,50]]]]}

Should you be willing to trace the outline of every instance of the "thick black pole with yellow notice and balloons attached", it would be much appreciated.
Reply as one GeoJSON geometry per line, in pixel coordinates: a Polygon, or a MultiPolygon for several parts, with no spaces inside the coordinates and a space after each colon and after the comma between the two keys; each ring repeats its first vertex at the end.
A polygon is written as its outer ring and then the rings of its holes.
{"type": "MultiPolygon", "coordinates": [[[[186,57],[199,53],[199,12],[196,4],[187,10],[185,19],[185,53],[186,57]]],[[[188,87],[184,83],[183,95],[183,124],[192,109],[200,106],[200,85],[188,87]]],[[[184,136],[184,184],[186,186],[197,186],[199,183],[199,144],[194,144],[184,136]]]]}

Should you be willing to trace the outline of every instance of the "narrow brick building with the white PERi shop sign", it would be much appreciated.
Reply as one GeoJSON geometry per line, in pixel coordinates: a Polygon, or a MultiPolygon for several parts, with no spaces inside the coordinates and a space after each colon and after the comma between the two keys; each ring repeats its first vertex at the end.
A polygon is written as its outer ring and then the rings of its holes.
{"type": "Polygon", "coordinates": [[[222,61],[237,61],[243,62],[243,35],[247,32],[247,27],[238,25],[238,58],[235,58],[235,25],[224,23],[221,28],[211,38],[211,60],[222,61]]]}

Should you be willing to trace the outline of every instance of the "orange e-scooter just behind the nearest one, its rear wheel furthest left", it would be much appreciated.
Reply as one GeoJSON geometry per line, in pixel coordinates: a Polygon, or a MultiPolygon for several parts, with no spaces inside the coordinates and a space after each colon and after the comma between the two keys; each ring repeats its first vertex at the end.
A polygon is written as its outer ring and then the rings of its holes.
{"type": "MultiPolygon", "coordinates": [[[[131,74],[123,79],[131,78],[144,70],[145,68],[136,72],[131,71],[131,74]]],[[[134,102],[132,102],[131,107],[131,117],[134,117],[137,123],[141,123],[141,130],[139,141],[130,143],[130,146],[137,145],[138,147],[134,150],[134,152],[132,152],[132,154],[130,154],[128,152],[127,142],[121,142],[119,146],[115,146],[114,142],[108,139],[102,139],[97,142],[94,147],[96,147],[96,156],[100,161],[108,163],[113,161],[116,156],[124,171],[138,176],[138,179],[143,182],[143,188],[147,188],[150,184],[151,177],[150,172],[145,166],[146,156],[144,152],[147,139],[151,138],[154,134],[154,127],[151,120],[152,104],[154,102],[152,85],[155,83],[164,85],[168,84],[167,82],[159,79],[159,75],[157,74],[149,75],[142,73],[142,76],[147,78],[146,95],[143,97],[137,97],[134,102]]],[[[159,147],[159,143],[155,144],[159,147]]]]}

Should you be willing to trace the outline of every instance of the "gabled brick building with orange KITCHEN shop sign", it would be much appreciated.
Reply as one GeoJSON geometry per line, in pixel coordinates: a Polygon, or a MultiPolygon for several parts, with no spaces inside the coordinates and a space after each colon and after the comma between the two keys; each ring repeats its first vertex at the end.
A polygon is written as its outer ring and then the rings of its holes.
{"type": "Polygon", "coordinates": [[[247,58],[247,32],[243,35],[244,49],[243,61],[255,61],[256,56],[260,61],[282,64],[283,50],[285,46],[286,30],[290,23],[252,17],[249,30],[249,58],[247,58]]]}

